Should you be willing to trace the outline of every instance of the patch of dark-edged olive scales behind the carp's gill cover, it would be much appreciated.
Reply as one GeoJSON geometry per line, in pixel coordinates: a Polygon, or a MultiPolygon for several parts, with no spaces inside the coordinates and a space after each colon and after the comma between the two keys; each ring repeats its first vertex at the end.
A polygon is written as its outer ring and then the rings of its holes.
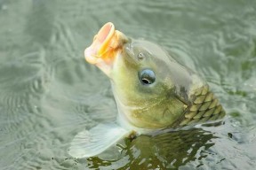
{"type": "Polygon", "coordinates": [[[220,120],[225,116],[225,111],[219,100],[213,95],[208,85],[196,89],[192,104],[188,106],[181,117],[177,127],[205,122],[210,120],[220,120]]]}

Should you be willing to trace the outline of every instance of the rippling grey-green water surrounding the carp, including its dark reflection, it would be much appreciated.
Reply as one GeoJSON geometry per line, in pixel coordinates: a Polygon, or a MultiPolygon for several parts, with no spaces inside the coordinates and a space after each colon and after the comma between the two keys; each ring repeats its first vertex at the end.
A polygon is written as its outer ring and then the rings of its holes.
{"type": "Polygon", "coordinates": [[[0,169],[255,169],[255,0],[1,0],[0,169]],[[124,139],[71,158],[84,128],[115,120],[108,78],[84,48],[112,21],[209,82],[224,124],[124,139]]]}

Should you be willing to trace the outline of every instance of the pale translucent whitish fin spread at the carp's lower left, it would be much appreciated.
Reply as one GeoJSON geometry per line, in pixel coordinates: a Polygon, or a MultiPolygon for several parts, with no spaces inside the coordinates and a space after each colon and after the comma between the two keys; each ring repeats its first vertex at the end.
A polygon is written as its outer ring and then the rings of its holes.
{"type": "Polygon", "coordinates": [[[74,158],[92,157],[107,150],[128,133],[129,131],[116,124],[100,124],[78,133],[71,142],[68,153],[74,158]]]}

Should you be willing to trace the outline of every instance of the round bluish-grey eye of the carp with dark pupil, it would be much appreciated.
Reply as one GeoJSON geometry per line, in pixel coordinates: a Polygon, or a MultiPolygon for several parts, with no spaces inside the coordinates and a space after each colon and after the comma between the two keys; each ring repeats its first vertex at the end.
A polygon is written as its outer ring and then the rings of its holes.
{"type": "Polygon", "coordinates": [[[143,85],[149,85],[156,81],[156,74],[150,69],[144,69],[140,71],[139,79],[143,85]]]}

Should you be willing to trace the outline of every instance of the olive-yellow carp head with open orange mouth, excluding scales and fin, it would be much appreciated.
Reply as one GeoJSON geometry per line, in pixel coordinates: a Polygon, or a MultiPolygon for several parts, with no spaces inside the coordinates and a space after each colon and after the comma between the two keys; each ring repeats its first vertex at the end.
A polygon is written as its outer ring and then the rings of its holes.
{"type": "Polygon", "coordinates": [[[111,80],[119,116],[136,128],[172,127],[184,116],[191,87],[200,81],[153,42],[135,40],[103,26],[86,60],[111,80]]]}

